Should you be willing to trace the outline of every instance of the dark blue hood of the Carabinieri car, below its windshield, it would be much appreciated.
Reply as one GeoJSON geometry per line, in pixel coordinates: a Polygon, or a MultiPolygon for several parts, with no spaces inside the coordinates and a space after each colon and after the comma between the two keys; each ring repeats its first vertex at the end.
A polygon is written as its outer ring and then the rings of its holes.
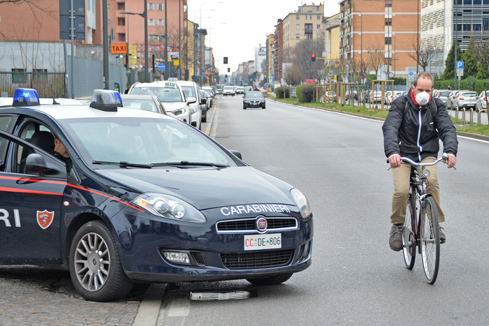
{"type": "Polygon", "coordinates": [[[186,200],[197,209],[244,204],[295,205],[293,186],[251,168],[103,169],[104,177],[141,193],[164,193],[186,200]]]}

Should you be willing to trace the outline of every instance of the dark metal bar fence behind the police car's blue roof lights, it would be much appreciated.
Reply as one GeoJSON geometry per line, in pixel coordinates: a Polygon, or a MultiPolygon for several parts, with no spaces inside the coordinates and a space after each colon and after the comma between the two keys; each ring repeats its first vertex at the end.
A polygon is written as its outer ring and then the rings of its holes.
{"type": "Polygon", "coordinates": [[[39,97],[66,97],[65,74],[0,71],[0,95],[12,97],[17,88],[36,89],[39,97]]]}

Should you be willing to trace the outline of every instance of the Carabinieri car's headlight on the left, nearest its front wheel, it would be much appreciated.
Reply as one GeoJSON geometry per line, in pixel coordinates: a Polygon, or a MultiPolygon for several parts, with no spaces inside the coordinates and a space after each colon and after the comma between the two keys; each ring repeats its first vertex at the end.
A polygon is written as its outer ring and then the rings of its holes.
{"type": "Polygon", "coordinates": [[[188,202],[172,195],[161,193],[144,193],[132,201],[134,204],[146,209],[151,214],[170,218],[177,221],[203,223],[205,216],[188,202]]]}

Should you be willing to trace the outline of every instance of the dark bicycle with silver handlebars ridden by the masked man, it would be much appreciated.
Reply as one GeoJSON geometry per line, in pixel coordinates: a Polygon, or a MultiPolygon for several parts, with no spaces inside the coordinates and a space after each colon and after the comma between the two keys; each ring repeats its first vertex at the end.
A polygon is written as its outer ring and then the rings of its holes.
{"type": "Polygon", "coordinates": [[[426,166],[446,162],[448,154],[444,153],[432,163],[416,163],[411,158],[401,157],[411,165],[409,177],[409,200],[406,217],[402,228],[402,252],[407,269],[413,269],[416,258],[416,246],[423,259],[423,269],[428,283],[437,280],[440,258],[440,239],[438,212],[435,200],[427,193],[430,171],[426,166]],[[421,174],[419,173],[421,168],[421,174]]]}

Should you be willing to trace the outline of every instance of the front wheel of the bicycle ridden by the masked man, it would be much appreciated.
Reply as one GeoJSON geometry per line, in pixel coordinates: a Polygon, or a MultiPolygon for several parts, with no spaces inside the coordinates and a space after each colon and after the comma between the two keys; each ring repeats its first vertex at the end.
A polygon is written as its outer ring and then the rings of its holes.
{"type": "Polygon", "coordinates": [[[435,200],[431,197],[426,198],[421,207],[421,257],[426,279],[433,284],[437,281],[440,259],[438,212],[435,200]]]}

